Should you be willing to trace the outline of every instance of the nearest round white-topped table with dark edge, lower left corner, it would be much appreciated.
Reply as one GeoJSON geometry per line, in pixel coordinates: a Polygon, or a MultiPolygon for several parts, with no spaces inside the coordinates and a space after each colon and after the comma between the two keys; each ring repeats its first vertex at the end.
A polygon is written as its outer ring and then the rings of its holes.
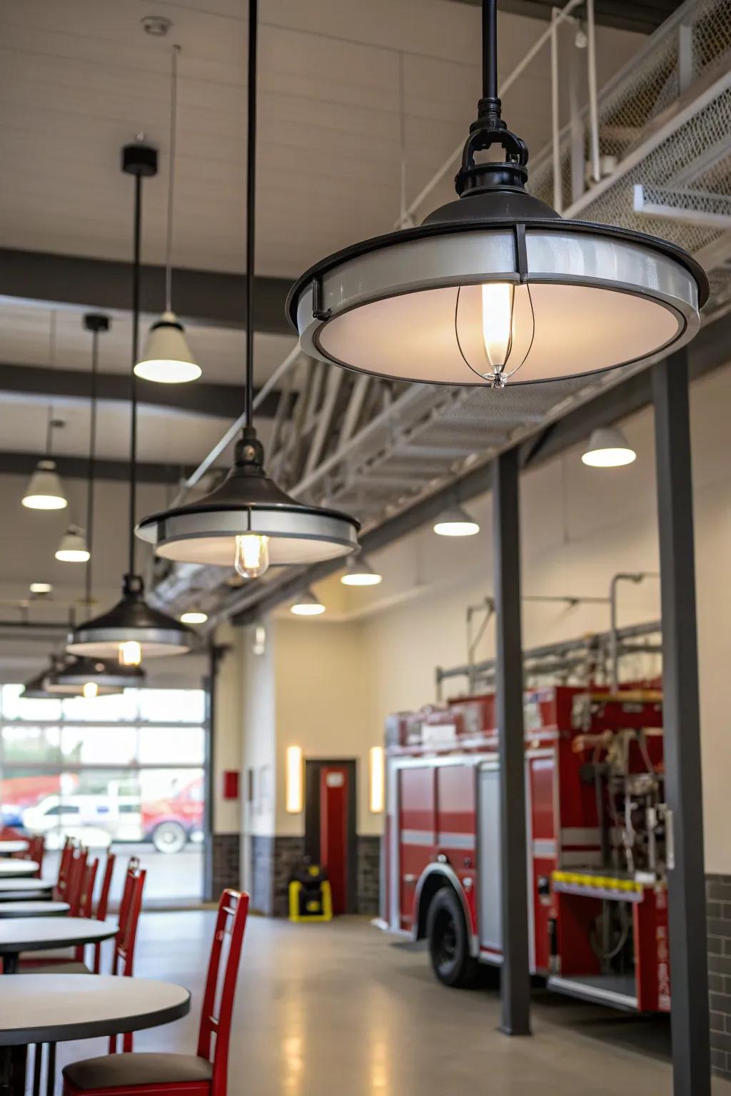
{"type": "Polygon", "coordinates": [[[16,1048],[10,1062],[11,1088],[24,1091],[30,1043],[49,1043],[47,1085],[53,1092],[57,1042],[140,1031],[190,1011],[190,992],[173,982],[110,974],[0,978],[0,1047],[16,1048]]]}

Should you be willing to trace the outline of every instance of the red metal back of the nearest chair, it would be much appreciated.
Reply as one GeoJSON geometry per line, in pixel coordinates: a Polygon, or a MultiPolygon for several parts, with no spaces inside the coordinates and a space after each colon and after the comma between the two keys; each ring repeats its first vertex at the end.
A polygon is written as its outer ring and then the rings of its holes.
{"type": "Polygon", "coordinates": [[[213,1061],[212,1096],[226,1096],[233,996],[248,913],[248,894],[235,890],[222,892],[208,961],[197,1051],[201,1058],[213,1061]],[[228,954],[224,957],[227,940],[228,954]]]}

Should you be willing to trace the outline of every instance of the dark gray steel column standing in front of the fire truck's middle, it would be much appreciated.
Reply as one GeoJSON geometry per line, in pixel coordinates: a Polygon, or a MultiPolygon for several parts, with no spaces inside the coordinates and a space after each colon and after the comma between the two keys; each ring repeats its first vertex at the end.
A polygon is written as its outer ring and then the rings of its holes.
{"type": "Polygon", "coordinates": [[[517,448],[494,461],[492,503],[503,935],[500,1026],[505,1035],[530,1035],[517,448]]]}

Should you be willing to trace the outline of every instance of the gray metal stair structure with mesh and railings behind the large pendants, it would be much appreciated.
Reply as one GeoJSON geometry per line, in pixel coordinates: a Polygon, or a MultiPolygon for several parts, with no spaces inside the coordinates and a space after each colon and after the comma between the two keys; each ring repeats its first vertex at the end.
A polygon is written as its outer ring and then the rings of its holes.
{"type": "MultiPolygon", "coordinates": [[[[707,270],[705,322],[731,309],[731,3],[687,0],[532,164],[529,190],[563,216],[664,237],[707,270]],[[594,137],[595,140],[595,137],[594,137]],[[555,178],[558,169],[558,178],[555,178]]],[[[295,496],[378,526],[488,463],[636,367],[502,390],[384,381],[292,354],[267,466],[295,496]]],[[[270,572],[231,589],[218,568],[156,563],[153,598],[168,610],[191,590],[212,621],[249,608],[282,581],[270,572]]]]}

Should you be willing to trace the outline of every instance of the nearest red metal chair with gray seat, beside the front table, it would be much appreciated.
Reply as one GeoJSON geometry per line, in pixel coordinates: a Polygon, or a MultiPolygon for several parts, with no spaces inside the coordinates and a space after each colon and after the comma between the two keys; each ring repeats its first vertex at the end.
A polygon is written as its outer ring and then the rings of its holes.
{"type": "Polygon", "coordinates": [[[125,1053],[72,1062],[64,1070],[64,1096],[158,1096],[163,1093],[168,1096],[226,1096],[233,996],[248,912],[248,894],[224,891],[218,903],[201,1009],[197,1053],[125,1053]],[[228,955],[222,960],[227,938],[228,955]]]}

